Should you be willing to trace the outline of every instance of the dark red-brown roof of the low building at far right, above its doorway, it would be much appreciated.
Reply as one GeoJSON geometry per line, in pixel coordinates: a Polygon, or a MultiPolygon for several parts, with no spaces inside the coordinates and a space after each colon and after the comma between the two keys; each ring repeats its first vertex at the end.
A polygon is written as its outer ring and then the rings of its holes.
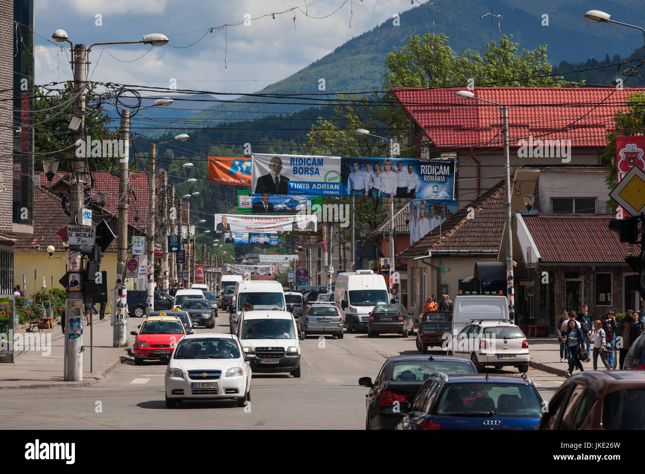
{"type": "MultiPolygon", "coordinates": [[[[624,263],[627,244],[609,228],[611,215],[524,215],[541,263],[624,263]]],[[[634,255],[640,249],[634,246],[634,255]]]]}

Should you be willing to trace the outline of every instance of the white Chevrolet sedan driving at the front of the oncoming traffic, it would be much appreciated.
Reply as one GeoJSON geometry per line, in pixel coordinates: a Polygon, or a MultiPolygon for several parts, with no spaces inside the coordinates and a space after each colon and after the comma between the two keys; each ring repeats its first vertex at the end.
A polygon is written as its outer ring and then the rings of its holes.
{"type": "MultiPolygon", "coordinates": [[[[166,356],[168,357],[168,356],[166,356]]],[[[166,408],[184,400],[251,400],[251,367],[235,335],[199,333],[177,343],[166,368],[166,408]]]]}

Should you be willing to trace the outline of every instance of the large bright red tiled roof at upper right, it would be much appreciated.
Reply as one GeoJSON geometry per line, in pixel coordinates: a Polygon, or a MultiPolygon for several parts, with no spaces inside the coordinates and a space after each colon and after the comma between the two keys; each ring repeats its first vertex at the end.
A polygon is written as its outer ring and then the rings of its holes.
{"type": "MultiPolygon", "coordinates": [[[[499,107],[459,99],[459,88],[405,89],[392,93],[438,148],[502,146],[499,107]]],[[[602,147],[613,115],[625,99],[645,89],[477,88],[475,97],[508,105],[510,146],[520,139],[570,139],[571,146],[602,147]],[[539,105],[536,105],[539,104],[539,105]],[[543,105],[542,105],[543,104],[543,105]]]]}

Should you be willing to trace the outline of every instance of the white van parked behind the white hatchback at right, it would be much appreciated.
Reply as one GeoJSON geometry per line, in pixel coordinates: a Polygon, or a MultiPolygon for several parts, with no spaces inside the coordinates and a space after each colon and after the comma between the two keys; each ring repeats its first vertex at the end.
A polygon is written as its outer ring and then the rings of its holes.
{"type": "Polygon", "coordinates": [[[453,308],[453,337],[473,320],[511,322],[505,296],[459,295],[455,297],[453,308]]]}

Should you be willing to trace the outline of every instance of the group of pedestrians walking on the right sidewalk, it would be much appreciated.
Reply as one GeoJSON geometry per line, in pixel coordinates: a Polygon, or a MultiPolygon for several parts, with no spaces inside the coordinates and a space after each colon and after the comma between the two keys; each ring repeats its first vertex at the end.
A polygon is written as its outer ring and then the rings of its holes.
{"type": "Polygon", "coordinates": [[[560,360],[568,362],[568,375],[571,375],[575,368],[584,371],[581,360],[584,359],[585,362],[591,360],[591,341],[593,341],[593,370],[598,370],[599,357],[606,370],[610,370],[614,365],[617,337],[620,338],[619,367],[622,370],[631,344],[645,330],[645,318],[640,311],[630,311],[622,324],[617,326],[614,311],[609,311],[607,319],[594,321],[585,304],[579,315],[575,311],[570,313],[563,311],[559,328],[560,360]]]}

